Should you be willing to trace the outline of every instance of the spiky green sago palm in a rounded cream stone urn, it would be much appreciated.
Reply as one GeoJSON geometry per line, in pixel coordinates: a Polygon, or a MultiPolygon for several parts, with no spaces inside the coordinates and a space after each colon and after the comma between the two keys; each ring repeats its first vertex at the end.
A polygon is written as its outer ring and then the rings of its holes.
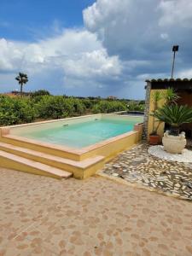
{"type": "Polygon", "coordinates": [[[164,149],[172,154],[181,154],[186,146],[186,139],[184,132],[179,134],[179,130],[181,125],[192,123],[192,108],[179,106],[176,103],[165,105],[155,111],[154,118],[171,127],[162,138],[164,149]]]}

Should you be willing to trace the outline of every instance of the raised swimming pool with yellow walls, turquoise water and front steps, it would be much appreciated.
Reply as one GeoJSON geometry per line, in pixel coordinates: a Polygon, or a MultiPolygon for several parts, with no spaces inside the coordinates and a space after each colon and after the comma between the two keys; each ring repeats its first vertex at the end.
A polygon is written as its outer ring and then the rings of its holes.
{"type": "Polygon", "coordinates": [[[64,170],[83,179],[137,144],[142,133],[143,116],[101,113],[0,127],[0,165],[57,177],[64,170]]]}

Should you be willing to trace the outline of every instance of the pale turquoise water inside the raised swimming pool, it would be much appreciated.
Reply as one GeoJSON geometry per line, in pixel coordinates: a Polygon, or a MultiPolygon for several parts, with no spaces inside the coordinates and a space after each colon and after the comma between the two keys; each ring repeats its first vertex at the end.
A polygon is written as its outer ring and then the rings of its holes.
{"type": "Polygon", "coordinates": [[[84,148],[102,142],[110,137],[116,137],[132,131],[136,120],[97,119],[79,124],[61,125],[60,127],[41,129],[22,133],[21,136],[39,140],[45,143],[66,145],[73,148],[84,148]]]}

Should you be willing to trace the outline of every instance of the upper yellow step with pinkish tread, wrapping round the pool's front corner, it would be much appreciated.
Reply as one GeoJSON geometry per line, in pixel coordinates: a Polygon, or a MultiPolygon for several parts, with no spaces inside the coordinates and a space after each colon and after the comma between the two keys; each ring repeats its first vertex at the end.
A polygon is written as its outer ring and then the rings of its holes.
{"type": "Polygon", "coordinates": [[[101,169],[104,164],[104,157],[100,155],[90,157],[85,160],[76,161],[2,142],[0,142],[0,150],[3,150],[9,154],[14,154],[18,157],[22,157],[26,160],[34,160],[39,164],[42,163],[53,166],[60,170],[73,172],[73,176],[80,179],[90,176],[90,173],[94,173],[96,170],[101,169]]]}

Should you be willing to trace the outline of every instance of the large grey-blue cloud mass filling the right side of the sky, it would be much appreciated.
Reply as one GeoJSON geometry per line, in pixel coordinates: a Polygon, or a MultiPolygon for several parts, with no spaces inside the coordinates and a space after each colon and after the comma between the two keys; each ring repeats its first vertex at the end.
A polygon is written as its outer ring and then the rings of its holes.
{"type": "Polygon", "coordinates": [[[169,78],[173,44],[179,44],[175,73],[192,76],[191,0],[97,0],[84,10],[84,25],[109,55],[119,55],[121,91],[135,86],[135,95],[141,95],[144,79],[169,78]]]}

